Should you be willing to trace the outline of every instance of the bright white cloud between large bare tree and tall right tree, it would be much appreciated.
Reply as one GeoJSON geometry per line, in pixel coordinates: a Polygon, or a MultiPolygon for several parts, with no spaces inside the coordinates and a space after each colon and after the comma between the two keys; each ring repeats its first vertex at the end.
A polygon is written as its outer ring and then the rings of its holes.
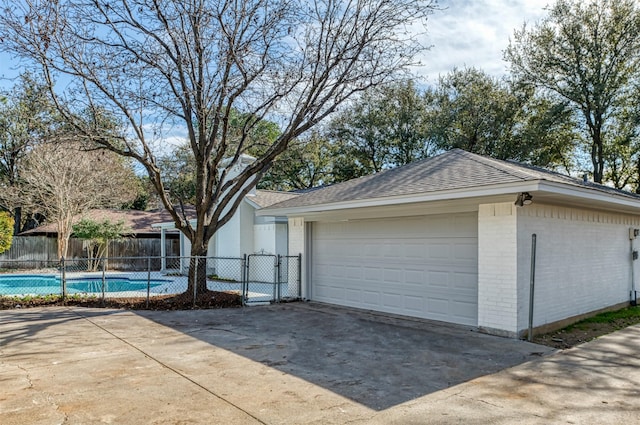
{"type": "MultiPolygon", "coordinates": [[[[415,72],[435,83],[454,67],[481,68],[494,76],[507,73],[502,52],[522,24],[546,15],[549,0],[440,0],[444,9],[427,23],[423,42],[432,45],[415,72]]],[[[552,2],[551,2],[552,3],[552,2]]]]}

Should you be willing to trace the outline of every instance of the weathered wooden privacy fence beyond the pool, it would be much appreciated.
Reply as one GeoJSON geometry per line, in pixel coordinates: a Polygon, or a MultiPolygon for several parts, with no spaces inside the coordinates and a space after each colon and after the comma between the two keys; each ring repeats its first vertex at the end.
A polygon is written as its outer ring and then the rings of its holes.
{"type": "MultiPolygon", "coordinates": [[[[83,247],[82,239],[71,238],[69,240],[68,259],[86,258],[87,251],[83,247]]],[[[110,257],[157,257],[161,255],[160,239],[125,239],[109,244],[110,257]]],[[[166,255],[179,256],[180,242],[178,239],[167,239],[165,241],[166,255]]],[[[15,236],[11,243],[11,248],[0,254],[0,267],[3,260],[23,260],[27,263],[34,261],[58,261],[58,244],[56,238],[47,236],[15,236]]]]}

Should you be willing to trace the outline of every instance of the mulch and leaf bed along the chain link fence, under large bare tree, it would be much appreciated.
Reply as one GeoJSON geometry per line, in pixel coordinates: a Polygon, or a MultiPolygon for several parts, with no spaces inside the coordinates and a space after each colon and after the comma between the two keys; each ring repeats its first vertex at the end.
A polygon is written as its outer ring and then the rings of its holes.
{"type": "Polygon", "coordinates": [[[96,297],[84,298],[67,298],[62,300],[61,297],[33,297],[16,299],[12,297],[0,297],[0,310],[12,308],[29,308],[29,307],[45,307],[45,306],[61,306],[70,305],[78,307],[94,307],[94,308],[123,308],[130,310],[194,310],[194,309],[210,309],[210,308],[233,308],[242,307],[242,298],[240,295],[228,292],[207,291],[194,299],[192,295],[163,295],[149,299],[141,298],[107,298],[101,299],[96,297]]]}

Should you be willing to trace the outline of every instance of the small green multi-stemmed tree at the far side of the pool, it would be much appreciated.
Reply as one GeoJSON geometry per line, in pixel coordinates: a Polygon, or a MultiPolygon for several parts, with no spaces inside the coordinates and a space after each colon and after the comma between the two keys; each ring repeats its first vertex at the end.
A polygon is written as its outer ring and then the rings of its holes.
{"type": "Polygon", "coordinates": [[[130,232],[124,221],[115,223],[110,220],[101,222],[83,218],[73,225],[73,236],[85,240],[87,250],[87,268],[95,271],[100,265],[100,259],[109,257],[109,243],[120,241],[130,232]]]}

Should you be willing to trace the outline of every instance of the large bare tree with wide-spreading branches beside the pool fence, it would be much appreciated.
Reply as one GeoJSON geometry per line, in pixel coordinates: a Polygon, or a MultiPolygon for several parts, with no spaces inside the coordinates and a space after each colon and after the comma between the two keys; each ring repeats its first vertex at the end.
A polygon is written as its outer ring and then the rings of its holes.
{"type": "Polygon", "coordinates": [[[418,32],[437,6],[435,0],[0,4],[4,49],[42,67],[61,113],[78,130],[146,169],[194,256],[206,255],[210,238],[291,140],[415,63],[426,49],[418,32]],[[69,87],[64,102],[53,89],[62,77],[69,87]],[[118,140],[100,137],[67,109],[98,106],[127,125],[118,140]],[[243,121],[232,136],[233,111],[243,121]],[[280,135],[234,175],[263,119],[278,123],[280,135]],[[195,158],[195,226],[169,199],[158,162],[176,127],[186,132],[195,158]]]}

